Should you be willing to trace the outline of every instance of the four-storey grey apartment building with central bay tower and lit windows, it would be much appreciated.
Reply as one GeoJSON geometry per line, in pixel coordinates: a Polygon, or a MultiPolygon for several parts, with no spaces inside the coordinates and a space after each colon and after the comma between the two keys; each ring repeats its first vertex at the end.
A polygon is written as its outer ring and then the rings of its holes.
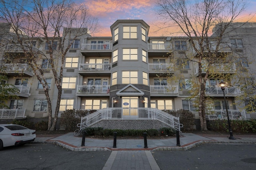
{"type": "MultiPolygon", "coordinates": [[[[221,53],[239,53],[237,56],[240,57],[242,66],[253,70],[256,68],[253,61],[256,53],[256,23],[242,26],[242,23],[237,24],[240,24],[240,28],[224,37],[229,43],[222,45],[221,53]]],[[[152,109],[185,109],[192,111],[199,120],[196,103],[192,99],[188,100],[191,96],[192,79],[196,80],[198,76],[198,65],[182,61],[184,63],[178,80],[170,81],[170,77],[177,71],[172,57],[182,58],[186,54],[197,60],[197,53],[188,37],[148,37],[150,25],[143,20],[117,20],[110,29],[112,37],[92,37],[87,34],[76,39],[70,47],[64,63],[59,116],[66,109],[116,108],[110,112],[112,118],[153,119],[154,117],[148,115],[152,109]],[[146,109],[147,116],[139,115],[143,112],[142,108],[146,109]]],[[[212,42],[218,35],[218,29],[220,27],[216,26],[211,37],[212,42]]],[[[33,41],[31,45],[47,53],[48,45],[43,39],[33,41]]],[[[58,50],[58,44],[54,50],[58,50]]],[[[9,63],[3,63],[3,66],[9,77],[8,84],[14,84],[20,89],[17,94],[20,99],[10,100],[9,108],[1,109],[0,118],[6,117],[3,115],[11,113],[10,110],[16,110],[16,113],[19,111],[18,117],[47,117],[48,106],[42,84],[23,60],[22,51],[13,43],[2,45],[1,51],[2,58],[6,53],[13,55],[9,63]]],[[[45,68],[54,109],[57,89],[54,77],[49,71],[51,66],[47,59],[42,58],[40,62],[42,68],[45,68]]],[[[216,62],[214,67],[214,71],[227,74],[234,74],[238,69],[237,63],[227,61],[216,62]],[[229,69],[225,69],[227,67],[229,69]]],[[[218,77],[210,76],[206,83],[206,96],[211,103],[207,111],[211,113],[207,117],[209,120],[225,118],[224,98],[219,86],[221,81],[218,77]]],[[[225,93],[231,119],[255,118],[254,112],[247,113],[244,109],[249,103],[235,104],[236,96],[241,95],[242,91],[237,83],[228,81],[225,93]]]]}

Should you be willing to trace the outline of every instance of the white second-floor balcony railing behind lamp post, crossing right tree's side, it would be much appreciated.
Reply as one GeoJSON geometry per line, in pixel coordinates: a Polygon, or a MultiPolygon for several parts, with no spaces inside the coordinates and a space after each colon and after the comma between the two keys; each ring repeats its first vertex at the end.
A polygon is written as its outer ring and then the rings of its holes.
{"type": "MultiPolygon", "coordinates": [[[[241,90],[239,86],[229,86],[224,90],[225,94],[240,94],[241,90]]],[[[206,94],[223,94],[220,86],[206,86],[205,87],[206,94]]]]}

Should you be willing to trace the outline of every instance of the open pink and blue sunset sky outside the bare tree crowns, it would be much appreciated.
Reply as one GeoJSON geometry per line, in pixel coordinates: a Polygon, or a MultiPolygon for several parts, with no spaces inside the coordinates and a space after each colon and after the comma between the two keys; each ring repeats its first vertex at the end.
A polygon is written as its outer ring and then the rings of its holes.
{"type": "MultiPolygon", "coordinates": [[[[95,36],[112,36],[110,26],[116,20],[144,20],[150,25],[149,36],[168,36],[168,32],[159,30],[159,19],[155,12],[157,0],[77,0],[85,4],[89,13],[98,18],[100,31],[95,36]]],[[[245,14],[256,13],[256,0],[250,0],[245,14]]],[[[244,18],[241,16],[240,21],[244,18]]],[[[239,21],[239,20],[238,20],[239,21]]],[[[256,22],[256,17],[250,21],[256,22]]]]}

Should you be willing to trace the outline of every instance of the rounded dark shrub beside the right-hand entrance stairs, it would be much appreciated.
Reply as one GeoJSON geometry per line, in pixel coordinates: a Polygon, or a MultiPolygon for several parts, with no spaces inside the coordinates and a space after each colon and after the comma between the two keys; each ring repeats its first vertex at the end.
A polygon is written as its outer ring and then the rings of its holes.
{"type": "Polygon", "coordinates": [[[195,122],[195,118],[191,111],[188,110],[164,110],[166,113],[174,115],[180,118],[180,123],[183,124],[182,131],[192,130],[195,122]]]}

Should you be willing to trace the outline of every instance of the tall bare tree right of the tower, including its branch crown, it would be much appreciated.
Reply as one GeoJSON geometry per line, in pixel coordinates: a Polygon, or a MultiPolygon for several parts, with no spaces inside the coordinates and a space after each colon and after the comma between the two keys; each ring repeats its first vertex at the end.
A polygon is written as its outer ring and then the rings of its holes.
{"type": "MultiPolygon", "coordinates": [[[[228,55],[221,53],[227,34],[226,29],[246,9],[244,0],[158,0],[156,12],[165,25],[176,25],[180,33],[188,37],[191,50],[196,53],[184,55],[184,59],[198,65],[198,88],[193,89],[198,98],[201,130],[206,131],[206,81],[212,74],[212,66],[217,60],[226,60],[228,55]],[[219,25],[218,35],[211,39],[212,29],[219,25]],[[214,47],[214,48],[212,48],[214,47]],[[205,62],[207,61],[207,62],[205,62]],[[205,74],[202,74],[202,70],[205,74]]],[[[224,78],[224,75],[218,75],[224,78]]]]}

